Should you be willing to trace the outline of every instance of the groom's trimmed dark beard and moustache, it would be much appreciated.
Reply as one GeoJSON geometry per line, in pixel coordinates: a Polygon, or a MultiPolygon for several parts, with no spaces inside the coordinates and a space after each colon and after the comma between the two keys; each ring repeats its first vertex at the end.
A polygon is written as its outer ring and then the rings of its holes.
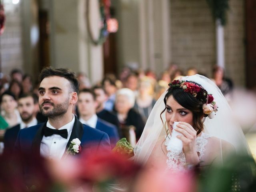
{"type": "Polygon", "coordinates": [[[56,104],[54,105],[54,103],[50,102],[50,101],[45,101],[43,102],[39,108],[41,113],[44,116],[47,116],[48,118],[55,118],[57,116],[62,116],[63,114],[65,114],[68,111],[68,105],[69,105],[69,98],[66,99],[66,101],[64,101],[63,103],[60,104],[56,104]],[[42,107],[44,104],[49,103],[53,106],[53,109],[50,111],[45,111],[42,107]]]}

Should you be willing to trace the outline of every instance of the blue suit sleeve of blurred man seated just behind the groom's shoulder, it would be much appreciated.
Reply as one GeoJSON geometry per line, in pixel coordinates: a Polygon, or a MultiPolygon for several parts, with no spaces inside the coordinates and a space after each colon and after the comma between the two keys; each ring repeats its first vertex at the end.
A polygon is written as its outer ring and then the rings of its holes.
{"type": "Polygon", "coordinates": [[[98,118],[96,129],[108,134],[110,138],[111,148],[114,148],[116,146],[116,142],[118,142],[118,140],[120,139],[116,126],[98,118]]]}

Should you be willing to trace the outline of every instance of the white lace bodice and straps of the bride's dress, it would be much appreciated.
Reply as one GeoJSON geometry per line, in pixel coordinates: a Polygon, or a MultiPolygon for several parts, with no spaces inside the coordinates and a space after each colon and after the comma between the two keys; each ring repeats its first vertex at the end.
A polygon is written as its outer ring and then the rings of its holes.
{"type": "MultiPolygon", "coordinates": [[[[199,153],[199,160],[201,160],[204,155],[205,146],[208,143],[207,138],[210,138],[209,134],[202,132],[200,136],[196,138],[196,151],[199,153]]],[[[167,170],[184,170],[184,166],[186,165],[185,154],[182,151],[180,154],[176,154],[170,150],[168,150],[168,144],[170,141],[170,134],[166,137],[165,146],[167,148],[167,170]]]]}

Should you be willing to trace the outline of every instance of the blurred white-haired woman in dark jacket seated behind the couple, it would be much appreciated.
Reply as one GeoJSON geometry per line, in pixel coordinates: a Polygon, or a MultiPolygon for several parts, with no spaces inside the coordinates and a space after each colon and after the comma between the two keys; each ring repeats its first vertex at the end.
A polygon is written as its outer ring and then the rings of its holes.
{"type": "MultiPolygon", "coordinates": [[[[122,131],[128,126],[135,127],[136,140],[142,134],[145,122],[142,116],[133,108],[135,103],[134,92],[128,88],[122,88],[116,92],[115,110],[122,131]]],[[[124,135],[121,135],[123,137],[124,135]]]]}

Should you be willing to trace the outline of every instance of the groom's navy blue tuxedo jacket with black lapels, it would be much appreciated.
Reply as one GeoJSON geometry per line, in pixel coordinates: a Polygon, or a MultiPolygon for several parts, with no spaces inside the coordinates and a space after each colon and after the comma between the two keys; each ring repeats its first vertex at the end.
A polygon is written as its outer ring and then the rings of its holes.
{"type": "MultiPolygon", "coordinates": [[[[46,122],[20,130],[14,150],[24,153],[32,152],[35,155],[40,155],[40,145],[44,136],[42,130],[44,126],[46,126],[46,122]]],[[[66,149],[68,149],[70,142],[74,138],[78,138],[81,141],[81,146],[83,147],[82,152],[90,152],[90,150],[95,151],[98,149],[104,151],[111,150],[110,140],[105,132],[82,124],[76,116],[66,149]]]]}

